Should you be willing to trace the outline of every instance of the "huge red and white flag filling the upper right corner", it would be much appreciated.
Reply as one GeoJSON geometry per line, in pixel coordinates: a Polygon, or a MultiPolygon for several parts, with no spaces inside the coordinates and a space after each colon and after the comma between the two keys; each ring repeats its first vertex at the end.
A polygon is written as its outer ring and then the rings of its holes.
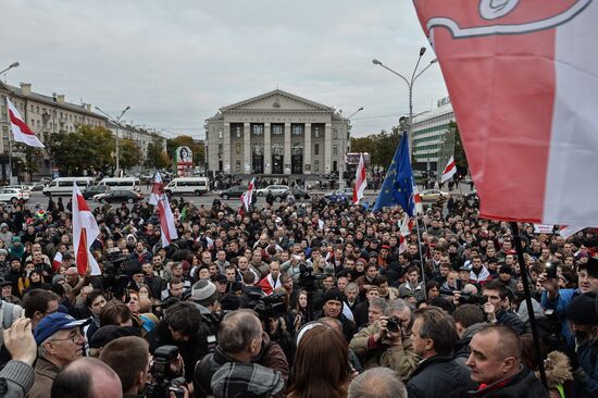
{"type": "Polygon", "coordinates": [[[482,216],[598,225],[598,1],[413,2],[482,216]]]}

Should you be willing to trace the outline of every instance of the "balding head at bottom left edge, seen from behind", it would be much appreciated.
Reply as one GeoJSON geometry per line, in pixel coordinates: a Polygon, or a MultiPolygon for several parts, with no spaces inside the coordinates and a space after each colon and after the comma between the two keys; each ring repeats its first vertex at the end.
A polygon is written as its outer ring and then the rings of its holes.
{"type": "Polygon", "coordinates": [[[52,384],[52,398],[115,398],[123,396],[121,380],[96,358],[80,358],[64,368],[52,384]]]}

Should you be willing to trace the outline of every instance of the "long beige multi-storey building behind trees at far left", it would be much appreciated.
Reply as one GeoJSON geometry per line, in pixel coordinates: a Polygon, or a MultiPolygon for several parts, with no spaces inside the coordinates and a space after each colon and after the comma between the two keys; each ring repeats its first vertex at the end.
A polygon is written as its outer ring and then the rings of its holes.
{"type": "MultiPolygon", "coordinates": [[[[64,95],[48,97],[34,92],[28,83],[22,83],[21,87],[14,87],[0,82],[0,130],[2,137],[0,140],[0,177],[4,181],[8,181],[10,175],[18,173],[18,160],[22,158],[14,148],[7,98],[10,98],[24,122],[43,144],[49,139],[50,134],[75,132],[79,125],[105,127],[105,117],[95,113],[89,103],[77,105],[66,102],[64,95]],[[12,164],[12,172],[9,170],[9,163],[12,164]]],[[[36,174],[39,176],[51,174],[52,162],[47,151],[43,151],[38,169],[36,174]]]]}

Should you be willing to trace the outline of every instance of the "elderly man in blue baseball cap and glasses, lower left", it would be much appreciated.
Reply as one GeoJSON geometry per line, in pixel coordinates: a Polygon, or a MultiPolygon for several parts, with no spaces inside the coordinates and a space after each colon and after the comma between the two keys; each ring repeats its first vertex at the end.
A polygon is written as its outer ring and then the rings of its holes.
{"type": "Polygon", "coordinates": [[[77,321],[62,312],[52,313],[39,322],[34,333],[39,357],[35,365],[35,382],[29,398],[50,398],[58,373],[83,356],[85,337],[80,328],[88,322],[77,321]]]}

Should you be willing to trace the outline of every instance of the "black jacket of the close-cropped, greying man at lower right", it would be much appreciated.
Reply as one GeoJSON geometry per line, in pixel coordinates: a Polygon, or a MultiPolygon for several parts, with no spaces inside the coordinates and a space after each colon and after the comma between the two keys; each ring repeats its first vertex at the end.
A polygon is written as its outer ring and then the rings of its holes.
{"type": "Polygon", "coordinates": [[[472,397],[483,398],[549,398],[541,382],[527,368],[508,380],[498,381],[489,386],[470,391],[472,397]]]}

